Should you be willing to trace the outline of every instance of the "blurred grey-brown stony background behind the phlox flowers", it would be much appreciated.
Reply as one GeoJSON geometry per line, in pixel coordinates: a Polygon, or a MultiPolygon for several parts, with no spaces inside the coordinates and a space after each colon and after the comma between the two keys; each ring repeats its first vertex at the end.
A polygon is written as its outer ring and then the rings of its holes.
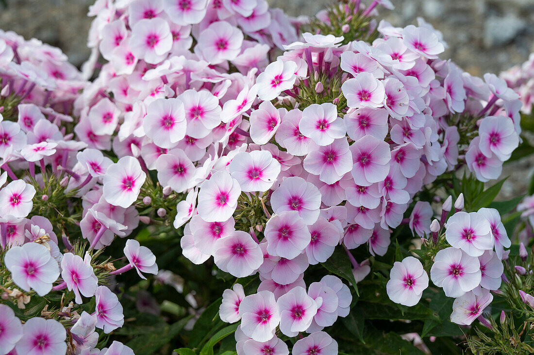
{"type": "MultiPolygon", "coordinates": [[[[371,0],[364,0],[370,3],[371,0]]],[[[0,2],[0,28],[58,46],[75,65],[88,58],[87,32],[93,0],[5,0],[0,2]]],[[[268,0],[290,15],[313,15],[333,0],[268,0]]],[[[394,26],[415,24],[425,18],[443,32],[451,58],[473,75],[520,64],[534,52],[534,0],[392,0],[395,10],[380,9],[381,18],[394,26]]],[[[534,157],[506,164],[503,176],[512,175],[503,198],[525,191],[534,171],[534,157]],[[513,172],[513,174],[512,174],[513,172]]]]}

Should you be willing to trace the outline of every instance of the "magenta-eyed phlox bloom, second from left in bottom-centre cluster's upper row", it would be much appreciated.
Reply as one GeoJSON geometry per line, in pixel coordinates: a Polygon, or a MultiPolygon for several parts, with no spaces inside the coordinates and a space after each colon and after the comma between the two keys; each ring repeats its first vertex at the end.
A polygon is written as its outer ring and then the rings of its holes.
{"type": "Polygon", "coordinates": [[[241,330],[257,342],[269,341],[280,323],[278,305],[270,291],[249,295],[239,304],[241,330]]]}

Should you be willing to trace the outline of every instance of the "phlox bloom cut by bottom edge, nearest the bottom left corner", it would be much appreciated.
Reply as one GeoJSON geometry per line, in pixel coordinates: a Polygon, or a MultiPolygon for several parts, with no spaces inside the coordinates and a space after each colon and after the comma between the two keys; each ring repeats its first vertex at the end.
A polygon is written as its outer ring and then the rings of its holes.
{"type": "Polygon", "coordinates": [[[18,354],[65,354],[67,332],[55,319],[30,318],[22,326],[22,338],[15,346],[18,354]]]}

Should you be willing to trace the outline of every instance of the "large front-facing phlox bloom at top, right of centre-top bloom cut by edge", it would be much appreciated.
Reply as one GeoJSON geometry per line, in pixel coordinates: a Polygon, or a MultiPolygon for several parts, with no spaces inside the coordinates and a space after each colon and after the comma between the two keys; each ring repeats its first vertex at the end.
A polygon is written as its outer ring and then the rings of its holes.
{"type": "Polygon", "coordinates": [[[241,52],[243,38],[241,30],[229,22],[213,22],[200,33],[195,53],[200,53],[210,64],[232,60],[241,52]]]}

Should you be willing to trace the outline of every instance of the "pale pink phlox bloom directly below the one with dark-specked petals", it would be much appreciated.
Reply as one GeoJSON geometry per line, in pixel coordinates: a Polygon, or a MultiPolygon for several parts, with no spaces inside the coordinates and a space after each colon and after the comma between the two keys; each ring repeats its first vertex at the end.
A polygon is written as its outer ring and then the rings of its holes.
{"type": "Polygon", "coordinates": [[[373,136],[365,136],[350,146],[352,177],[357,185],[369,186],[383,181],[389,173],[389,144],[373,136]]]}

